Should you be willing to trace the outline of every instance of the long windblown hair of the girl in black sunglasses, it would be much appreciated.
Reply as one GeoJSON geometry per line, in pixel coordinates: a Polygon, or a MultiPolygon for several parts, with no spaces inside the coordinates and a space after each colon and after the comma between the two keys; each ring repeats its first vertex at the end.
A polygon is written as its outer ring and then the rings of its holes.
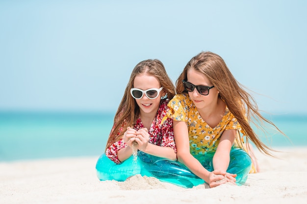
{"type": "Polygon", "coordinates": [[[203,73],[214,87],[217,88],[220,92],[219,97],[225,101],[228,109],[238,120],[243,131],[246,133],[247,144],[248,139],[250,139],[260,152],[273,156],[270,153],[270,150],[272,151],[273,149],[265,145],[259,139],[252,129],[250,122],[255,124],[255,126],[264,133],[266,133],[264,127],[265,122],[273,125],[281,134],[283,133],[273,122],[259,113],[255,99],[245,91],[247,89],[234,78],[224,60],[219,55],[212,52],[201,52],[194,56],[187,63],[176,81],[177,93],[187,92],[184,90],[182,80],[187,80],[187,71],[189,69],[194,69],[203,73]],[[251,118],[253,118],[253,120],[251,120],[251,118]]]}

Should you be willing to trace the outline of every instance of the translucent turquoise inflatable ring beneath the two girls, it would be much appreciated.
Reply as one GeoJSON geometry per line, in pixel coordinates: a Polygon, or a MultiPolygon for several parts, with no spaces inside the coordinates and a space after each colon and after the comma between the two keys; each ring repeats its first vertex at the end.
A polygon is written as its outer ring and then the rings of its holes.
{"type": "MultiPolygon", "coordinates": [[[[212,158],[214,153],[202,156],[201,163],[212,171],[212,158]]],[[[241,149],[230,152],[229,173],[237,174],[236,183],[241,185],[246,179],[251,168],[251,159],[241,149]]],[[[116,180],[126,181],[129,177],[140,174],[141,176],[155,177],[160,181],[170,182],[184,188],[205,183],[204,180],[193,174],[188,168],[176,161],[155,157],[138,151],[137,157],[131,156],[120,164],[114,163],[105,154],[98,159],[96,172],[100,181],[116,180]]]]}

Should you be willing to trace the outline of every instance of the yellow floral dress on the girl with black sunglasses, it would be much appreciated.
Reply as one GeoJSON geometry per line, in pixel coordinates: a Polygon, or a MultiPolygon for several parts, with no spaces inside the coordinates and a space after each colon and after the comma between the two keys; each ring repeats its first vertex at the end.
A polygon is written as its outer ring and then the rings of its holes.
{"type": "MultiPolygon", "coordinates": [[[[200,158],[207,153],[216,152],[220,138],[225,130],[237,130],[238,134],[233,144],[233,148],[243,148],[243,136],[245,132],[238,123],[234,115],[229,111],[228,107],[225,109],[220,123],[211,128],[205,120],[201,117],[193,101],[187,93],[181,93],[174,96],[168,103],[170,110],[167,117],[175,121],[184,121],[187,123],[190,142],[190,153],[195,158],[200,158]],[[240,134],[241,133],[241,136],[240,134]]],[[[176,141],[175,141],[176,142],[176,141]]],[[[247,152],[247,151],[246,151],[247,152]]],[[[250,173],[255,173],[256,169],[252,165],[250,173]]]]}

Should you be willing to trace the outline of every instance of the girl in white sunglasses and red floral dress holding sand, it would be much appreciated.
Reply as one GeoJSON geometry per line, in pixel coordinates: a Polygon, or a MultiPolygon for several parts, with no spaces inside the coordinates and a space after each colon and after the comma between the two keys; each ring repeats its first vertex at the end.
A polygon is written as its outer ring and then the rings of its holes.
{"type": "Polygon", "coordinates": [[[123,99],[114,117],[106,156],[115,163],[131,157],[133,142],[139,151],[176,160],[171,119],[161,123],[175,86],[159,60],[144,60],[132,70],[123,99]]]}

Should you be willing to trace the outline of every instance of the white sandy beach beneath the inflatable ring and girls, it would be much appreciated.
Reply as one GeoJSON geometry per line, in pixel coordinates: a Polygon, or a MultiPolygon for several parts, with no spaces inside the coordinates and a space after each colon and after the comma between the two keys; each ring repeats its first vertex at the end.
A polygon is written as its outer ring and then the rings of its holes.
{"type": "MultiPolygon", "coordinates": [[[[279,149],[281,150],[281,149],[279,149]]],[[[155,178],[99,181],[99,156],[0,163],[1,204],[305,204],[307,147],[282,149],[280,159],[256,152],[261,172],[245,185],[199,185],[186,189],[155,178]]]]}

